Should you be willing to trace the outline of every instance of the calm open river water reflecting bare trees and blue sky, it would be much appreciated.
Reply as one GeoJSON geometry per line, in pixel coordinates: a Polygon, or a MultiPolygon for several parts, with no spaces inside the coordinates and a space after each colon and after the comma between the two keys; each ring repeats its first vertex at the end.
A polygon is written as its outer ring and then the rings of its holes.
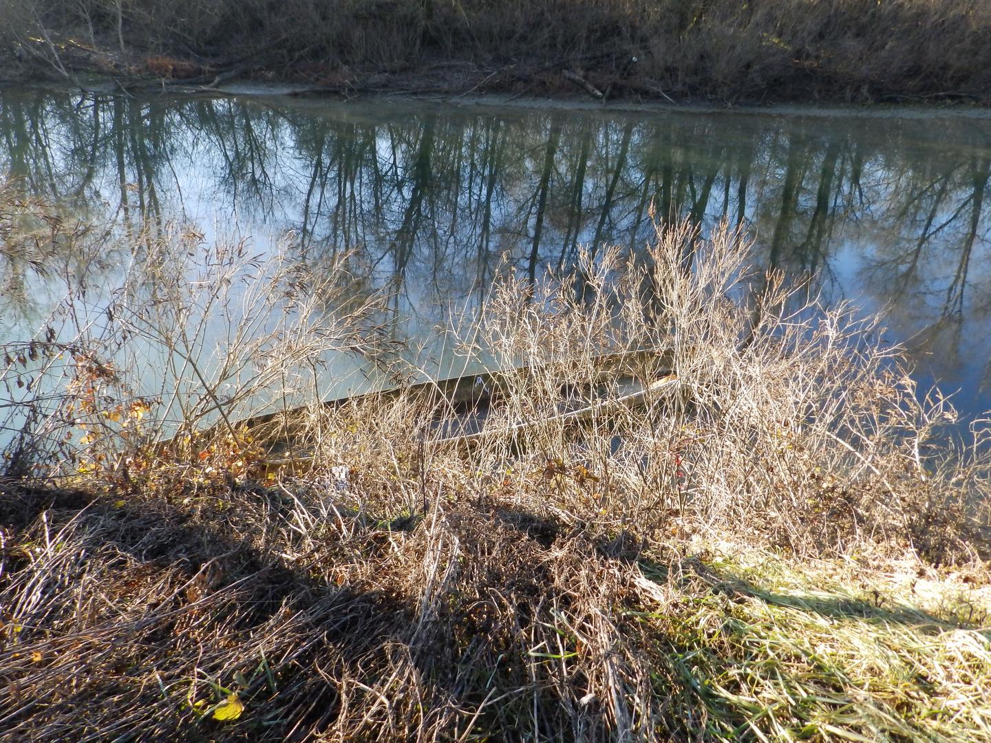
{"type": "MultiPolygon", "coordinates": [[[[919,379],[991,408],[988,119],[6,90],[2,170],[118,232],[198,224],[264,251],[291,230],[310,256],[353,251],[356,291],[394,290],[413,334],[484,292],[501,256],[539,275],[583,245],[642,250],[651,204],[703,230],[727,219],[760,265],[886,308],[919,379]]],[[[131,260],[48,278],[0,265],[0,335],[30,336],[66,279],[106,290],[131,260]]]]}

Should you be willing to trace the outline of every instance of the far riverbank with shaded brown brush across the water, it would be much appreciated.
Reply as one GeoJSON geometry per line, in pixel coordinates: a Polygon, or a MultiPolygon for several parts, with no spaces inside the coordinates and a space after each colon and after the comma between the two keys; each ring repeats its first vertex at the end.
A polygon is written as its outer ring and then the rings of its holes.
{"type": "Polygon", "coordinates": [[[755,104],[991,100],[979,0],[9,3],[0,77],[119,89],[282,81],[350,96],[755,104]]]}

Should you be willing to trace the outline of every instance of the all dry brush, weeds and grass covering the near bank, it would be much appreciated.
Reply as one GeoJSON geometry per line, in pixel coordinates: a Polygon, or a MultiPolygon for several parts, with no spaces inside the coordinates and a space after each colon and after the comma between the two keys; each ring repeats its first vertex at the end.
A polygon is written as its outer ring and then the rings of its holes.
{"type": "Polygon", "coordinates": [[[384,363],[382,307],[346,262],[211,251],[36,339],[61,381],[19,399],[0,492],[0,740],[991,740],[988,458],[876,320],[725,228],[506,270],[447,331],[503,370],[483,435],[312,399],[279,469],[253,393],[384,363]],[[153,352],[154,394],[120,361],[153,352]]]}

